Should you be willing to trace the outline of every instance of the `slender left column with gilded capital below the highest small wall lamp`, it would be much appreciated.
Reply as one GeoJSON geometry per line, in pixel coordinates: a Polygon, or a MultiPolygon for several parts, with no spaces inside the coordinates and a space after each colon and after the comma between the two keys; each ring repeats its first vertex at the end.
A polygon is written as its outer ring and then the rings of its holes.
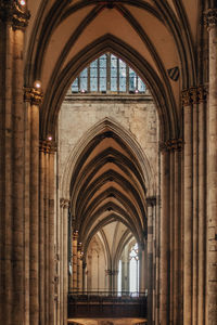
{"type": "Polygon", "coordinates": [[[24,99],[30,105],[29,136],[29,321],[39,322],[39,105],[42,93],[25,88],[24,99]]]}

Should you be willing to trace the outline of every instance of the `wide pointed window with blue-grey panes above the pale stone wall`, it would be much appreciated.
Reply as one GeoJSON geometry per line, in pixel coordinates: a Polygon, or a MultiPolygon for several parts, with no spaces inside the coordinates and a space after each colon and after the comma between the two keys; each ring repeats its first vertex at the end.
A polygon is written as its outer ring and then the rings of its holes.
{"type": "Polygon", "coordinates": [[[90,63],[72,84],[72,92],[144,93],[141,78],[122,60],[106,53],[90,63]]]}

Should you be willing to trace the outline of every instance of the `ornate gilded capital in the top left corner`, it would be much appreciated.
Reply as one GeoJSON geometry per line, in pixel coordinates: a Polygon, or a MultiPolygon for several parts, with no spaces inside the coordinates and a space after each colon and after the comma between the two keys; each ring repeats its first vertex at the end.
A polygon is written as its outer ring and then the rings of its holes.
{"type": "Polygon", "coordinates": [[[0,0],[0,20],[12,25],[13,29],[24,29],[29,18],[26,3],[22,4],[18,0],[0,0]]]}

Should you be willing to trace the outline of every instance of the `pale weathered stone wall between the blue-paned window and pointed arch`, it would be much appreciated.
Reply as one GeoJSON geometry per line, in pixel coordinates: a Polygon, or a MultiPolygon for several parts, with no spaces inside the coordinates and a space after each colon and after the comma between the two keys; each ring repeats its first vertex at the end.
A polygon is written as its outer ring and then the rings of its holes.
{"type": "MultiPolygon", "coordinates": [[[[86,132],[108,118],[118,123],[141,147],[154,177],[157,176],[158,119],[151,96],[66,96],[59,116],[59,177],[86,132]]],[[[156,179],[155,179],[156,182],[156,179]]]]}

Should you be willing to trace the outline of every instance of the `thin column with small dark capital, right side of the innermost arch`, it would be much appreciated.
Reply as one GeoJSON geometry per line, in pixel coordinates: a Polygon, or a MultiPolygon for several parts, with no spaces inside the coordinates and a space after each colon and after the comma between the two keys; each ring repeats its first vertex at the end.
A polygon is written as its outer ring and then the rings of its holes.
{"type": "Polygon", "coordinates": [[[148,197],[148,322],[153,324],[153,219],[154,219],[154,205],[156,204],[155,197],[148,197]]]}

